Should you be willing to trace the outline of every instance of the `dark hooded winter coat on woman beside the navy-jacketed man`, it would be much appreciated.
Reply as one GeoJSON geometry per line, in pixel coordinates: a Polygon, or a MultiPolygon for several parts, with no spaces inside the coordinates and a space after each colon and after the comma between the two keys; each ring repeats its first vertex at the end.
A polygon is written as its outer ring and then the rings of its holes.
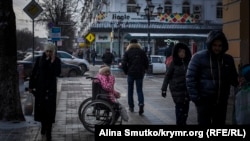
{"type": "Polygon", "coordinates": [[[189,100],[186,87],[186,72],[188,63],[191,59],[191,51],[185,44],[178,43],[173,48],[172,56],[173,61],[170,63],[168,71],[165,74],[161,90],[167,91],[169,85],[174,103],[184,103],[189,100]],[[180,48],[185,49],[186,57],[184,59],[178,56],[178,50],[180,48]]]}

